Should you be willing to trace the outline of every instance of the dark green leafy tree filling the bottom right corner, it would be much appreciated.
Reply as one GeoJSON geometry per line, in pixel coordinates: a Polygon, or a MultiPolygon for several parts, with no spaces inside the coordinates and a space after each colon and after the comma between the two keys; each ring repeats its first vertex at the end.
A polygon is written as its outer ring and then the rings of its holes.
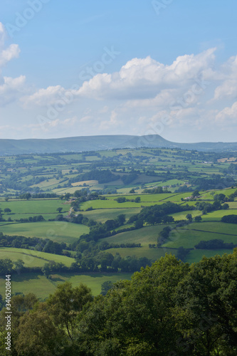
{"type": "Polygon", "coordinates": [[[174,318],[183,335],[180,355],[236,355],[236,257],[237,250],[204,257],[179,283],[174,318]]]}

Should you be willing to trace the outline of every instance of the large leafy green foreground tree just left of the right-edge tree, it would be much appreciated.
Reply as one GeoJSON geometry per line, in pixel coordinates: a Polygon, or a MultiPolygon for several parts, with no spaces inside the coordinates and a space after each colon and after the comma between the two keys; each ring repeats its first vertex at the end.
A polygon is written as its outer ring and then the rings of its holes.
{"type": "Polygon", "coordinates": [[[95,298],[78,323],[85,355],[169,355],[180,336],[171,316],[175,288],[188,271],[167,255],[95,298]]]}

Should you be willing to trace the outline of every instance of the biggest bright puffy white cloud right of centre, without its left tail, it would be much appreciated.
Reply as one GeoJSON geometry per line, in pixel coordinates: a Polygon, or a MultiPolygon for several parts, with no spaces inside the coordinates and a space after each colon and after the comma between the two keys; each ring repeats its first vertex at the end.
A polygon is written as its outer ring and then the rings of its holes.
{"type": "Polygon", "coordinates": [[[184,88],[191,80],[202,77],[214,64],[215,50],[179,56],[170,66],[149,56],[133,58],[119,72],[98,74],[85,81],[78,93],[95,99],[155,98],[161,90],[184,88]]]}

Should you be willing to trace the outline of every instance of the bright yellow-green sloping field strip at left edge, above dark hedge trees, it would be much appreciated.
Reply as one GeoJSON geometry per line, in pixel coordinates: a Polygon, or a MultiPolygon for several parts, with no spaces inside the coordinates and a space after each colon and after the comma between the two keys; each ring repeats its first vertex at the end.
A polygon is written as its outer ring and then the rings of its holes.
{"type": "Polygon", "coordinates": [[[53,253],[32,251],[26,248],[1,247],[0,259],[4,258],[10,258],[13,262],[20,259],[24,262],[25,267],[43,267],[45,263],[50,261],[61,262],[64,263],[65,266],[70,267],[70,265],[75,262],[74,258],[59,256],[53,253]]]}

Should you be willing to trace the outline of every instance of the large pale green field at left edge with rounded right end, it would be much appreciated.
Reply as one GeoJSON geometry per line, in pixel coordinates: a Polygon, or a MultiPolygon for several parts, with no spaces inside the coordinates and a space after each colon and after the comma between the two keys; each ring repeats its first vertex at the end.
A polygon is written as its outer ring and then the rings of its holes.
{"type": "Polygon", "coordinates": [[[41,237],[57,242],[72,244],[80,235],[88,234],[85,225],[72,224],[66,221],[43,221],[36,223],[19,223],[0,226],[0,231],[6,235],[21,235],[26,237],[41,237]]]}

